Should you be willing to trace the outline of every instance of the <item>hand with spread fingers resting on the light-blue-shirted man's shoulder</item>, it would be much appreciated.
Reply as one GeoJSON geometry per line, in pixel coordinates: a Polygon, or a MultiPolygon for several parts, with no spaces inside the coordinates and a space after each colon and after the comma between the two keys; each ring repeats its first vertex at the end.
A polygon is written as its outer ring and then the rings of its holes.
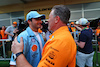
{"type": "Polygon", "coordinates": [[[16,54],[19,52],[23,52],[24,49],[24,43],[23,38],[20,38],[20,43],[17,41],[17,37],[15,37],[14,41],[12,42],[11,51],[16,54]]]}

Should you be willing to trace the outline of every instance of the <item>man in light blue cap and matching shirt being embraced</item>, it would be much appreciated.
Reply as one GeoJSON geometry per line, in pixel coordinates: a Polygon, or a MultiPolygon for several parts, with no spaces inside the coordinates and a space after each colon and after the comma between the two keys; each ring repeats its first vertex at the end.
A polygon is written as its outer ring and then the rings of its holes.
{"type": "MultiPolygon", "coordinates": [[[[45,15],[40,15],[37,11],[30,11],[27,14],[26,21],[28,22],[29,27],[27,27],[25,31],[20,33],[17,38],[17,41],[20,43],[20,38],[23,37],[24,50],[23,52],[20,52],[18,54],[12,54],[10,67],[18,66],[16,65],[16,57],[19,54],[24,54],[28,63],[30,63],[33,67],[37,67],[39,61],[41,60],[42,48],[44,46],[44,39],[42,35],[38,33],[38,29],[41,28],[42,19],[45,19],[45,15]]],[[[20,49],[20,47],[16,48],[20,49]]]]}

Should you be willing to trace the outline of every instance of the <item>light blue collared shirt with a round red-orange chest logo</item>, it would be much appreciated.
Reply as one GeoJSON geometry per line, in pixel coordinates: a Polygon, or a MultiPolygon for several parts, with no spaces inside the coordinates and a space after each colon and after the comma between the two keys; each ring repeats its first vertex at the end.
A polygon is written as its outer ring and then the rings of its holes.
{"type": "MultiPolygon", "coordinates": [[[[21,37],[23,37],[24,42],[23,54],[25,58],[33,67],[37,67],[39,61],[41,60],[41,52],[44,46],[42,35],[40,33],[33,32],[31,28],[28,27],[25,31],[18,35],[18,42],[20,42],[21,37]],[[40,37],[40,39],[37,37],[40,37]],[[41,40],[41,43],[39,40],[41,40]]],[[[13,59],[13,54],[11,56],[10,65],[16,65],[16,62],[13,59]]]]}

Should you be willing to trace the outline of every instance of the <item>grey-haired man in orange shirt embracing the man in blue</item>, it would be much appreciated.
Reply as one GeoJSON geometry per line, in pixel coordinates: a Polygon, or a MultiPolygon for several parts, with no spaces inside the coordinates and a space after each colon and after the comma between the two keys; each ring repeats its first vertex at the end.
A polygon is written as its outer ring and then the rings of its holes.
{"type": "MultiPolygon", "coordinates": [[[[48,29],[53,31],[50,39],[46,42],[42,59],[38,67],[75,67],[76,64],[76,44],[66,26],[70,18],[70,10],[64,5],[56,5],[48,19],[48,29]]],[[[20,43],[16,38],[12,44],[14,54],[23,51],[23,38],[20,43]],[[18,47],[18,48],[17,48],[18,47]]],[[[19,54],[16,59],[18,67],[32,67],[23,54],[19,54]]]]}

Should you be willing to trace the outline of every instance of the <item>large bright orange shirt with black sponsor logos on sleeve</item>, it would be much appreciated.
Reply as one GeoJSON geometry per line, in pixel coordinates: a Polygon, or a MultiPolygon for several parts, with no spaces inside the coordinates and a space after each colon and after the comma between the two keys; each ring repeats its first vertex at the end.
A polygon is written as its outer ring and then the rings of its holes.
{"type": "Polygon", "coordinates": [[[46,42],[38,67],[75,67],[76,44],[67,26],[60,27],[46,42]]]}

